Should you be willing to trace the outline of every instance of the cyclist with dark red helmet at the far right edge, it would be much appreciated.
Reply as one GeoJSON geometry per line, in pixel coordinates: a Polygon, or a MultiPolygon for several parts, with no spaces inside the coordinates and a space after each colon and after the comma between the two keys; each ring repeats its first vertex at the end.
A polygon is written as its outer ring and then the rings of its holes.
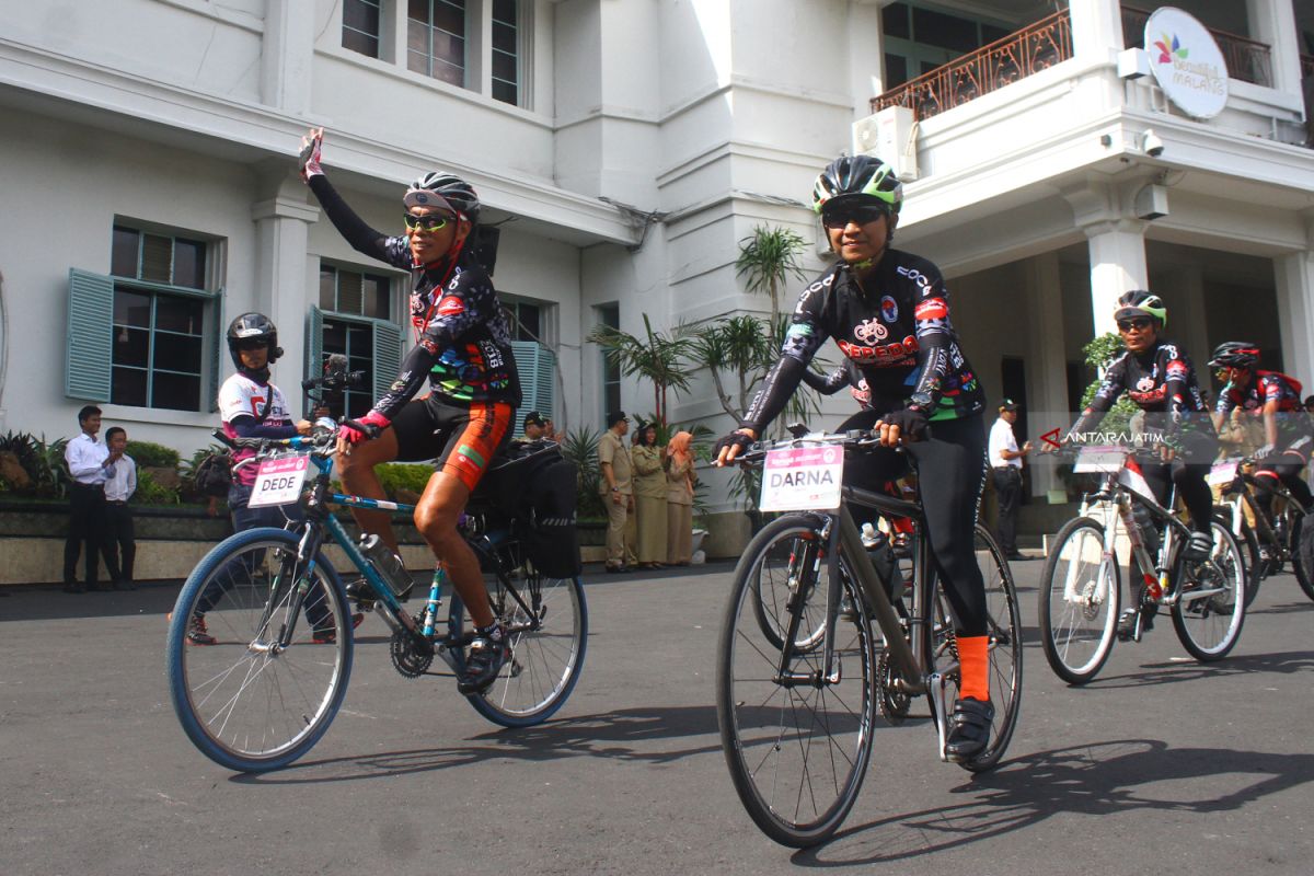
{"type": "MultiPolygon", "coordinates": [[[[1301,405],[1301,385],[1294,377],[1259,370],[1259,347],[1231,340],[1219,344],[1209,360],[1210,368],[1225,369],[1227,383],[1214,406],[1214,427],[1222,428],[1233,414],[1264,420],[1264,445],[1255,450],[1261,462],[1255,477],[1265,485],[1281,479],[1306,511],[1314,504],[1301,471],[1310,461],[1310,418],[1301,405]],[[1267,460],[1267,461],[1264,461],[1267,460]]],[[[1273,494],[1257,496],[1265,512],[1272,512],[1273,494]]]]}

